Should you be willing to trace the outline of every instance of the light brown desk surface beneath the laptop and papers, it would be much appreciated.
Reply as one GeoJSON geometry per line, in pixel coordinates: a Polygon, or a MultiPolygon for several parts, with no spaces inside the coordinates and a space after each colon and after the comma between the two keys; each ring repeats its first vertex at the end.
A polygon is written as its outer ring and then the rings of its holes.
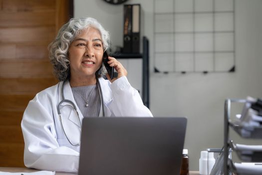
{"type": "MultiPolygon", "coordinates": [[[[0,167],[0,171],[3,172],[34,172],[38,171],[38,169],[32,169],[27,167],[0,167]]],[[[55,175],[75,175],[76,173],[69,172],[55,172],[55,175]]],[[[190,171],[189,175],[199,175],[198,171],[190,171]]]]}

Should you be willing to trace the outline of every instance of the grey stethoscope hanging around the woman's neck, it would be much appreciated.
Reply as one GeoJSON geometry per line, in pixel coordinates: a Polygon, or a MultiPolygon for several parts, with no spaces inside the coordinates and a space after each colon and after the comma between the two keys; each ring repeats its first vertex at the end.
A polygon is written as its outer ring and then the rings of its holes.
{"type": "MultiPolygon", "coordinates": [[[[73,101],[64,98],[64,84],[65,84],[65,81],[66,81],[66,80],[64,80],[63,83],[62,83],[62,87],[61,87],[62,100],[61,100],[61,101],[59,102],[59,104],[57,105],[57,113],[58,113],[58,116],[59,116],[59,121],[60,121],[60,124],[61,124],[61,128],[62,128],[62,130],[63,130],[63,132],[64,132],[64,134],[65,134],[65,137],[67,138],[67,140],[69,141],[69,143],[70,143],[72,146],[79,146],[80,143],[73,144],[73,143],[70,141],[70,139],[68,138],[68,136],[67,136],[66,133],[65,133],[65,130],[64,130],[64,127],[63,127],[63,123],[62,123],[62,119],[61,119],[61,110],[60,110],[60,108],[61,108],[62,103],[66,102],[67,104],[65,104],[65,105],[72,107],[72,108],[74,109],[74,111],[76,112],[78,121],[79,121],[79,123],[80,123],[80,128],[82,128],[82,124],[81,124],[80,117],[79,117],[79,114],[78,114],[77,109],[76,109],[76,105],[74,104],[73,101]],[[69,104],[68,104],[68,103],[69,103],[69,104]]],[[[103,93],[102,93],[101,84],[100,84],[98,78],[96,78],[96,82],[97,82],[97,84],[98,84],[99,97],[100,97],[100,101],[101,101],[101,102],[100,102],[100,112],[99,112],[99,116],[100,116],[100,114],[101,114],[101,108],[102,108],[102,116],[105,116],[104,104],[103,104],[103,101],[104,101],[104,99],[103,99],[103,93]]]]}

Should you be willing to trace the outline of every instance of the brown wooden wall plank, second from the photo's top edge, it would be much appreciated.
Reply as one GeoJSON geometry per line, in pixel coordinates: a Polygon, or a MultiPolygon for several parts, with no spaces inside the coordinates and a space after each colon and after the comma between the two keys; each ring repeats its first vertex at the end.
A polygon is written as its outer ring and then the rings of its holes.
{"type": "Polygon", "coordinates": [[[0,27],[55,25],[55,10],[0,12],[0,27]]]}

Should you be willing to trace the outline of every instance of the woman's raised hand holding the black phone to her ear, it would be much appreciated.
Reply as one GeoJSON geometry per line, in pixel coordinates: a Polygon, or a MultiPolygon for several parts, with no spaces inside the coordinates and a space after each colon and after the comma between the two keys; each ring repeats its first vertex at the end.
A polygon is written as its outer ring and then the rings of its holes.
{"type": "Polygon", "coordinates": [[[106,74],[106,77],[113,82],[114,80],[116,80],[117,78],[120,78],[121,76],[127,76],[127,71],[125,69],[125,67],[118,61],[116,60],[116,58],[112,57],[112,56],[108,56],[108,63],[111,67],[114,67],[115,70],[117,71],[118,75],[117,77],[111,79],[108,75],[108,73],[106,74]]]}

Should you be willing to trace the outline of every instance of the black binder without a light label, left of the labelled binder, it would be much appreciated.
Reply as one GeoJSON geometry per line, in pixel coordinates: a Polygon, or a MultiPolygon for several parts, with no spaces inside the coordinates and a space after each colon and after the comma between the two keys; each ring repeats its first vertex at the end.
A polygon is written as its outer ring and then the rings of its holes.
{"type": "Polygon", "coordinates": [[[124,5],[124,53],[132,53],[132,5],[124,5]]]}

